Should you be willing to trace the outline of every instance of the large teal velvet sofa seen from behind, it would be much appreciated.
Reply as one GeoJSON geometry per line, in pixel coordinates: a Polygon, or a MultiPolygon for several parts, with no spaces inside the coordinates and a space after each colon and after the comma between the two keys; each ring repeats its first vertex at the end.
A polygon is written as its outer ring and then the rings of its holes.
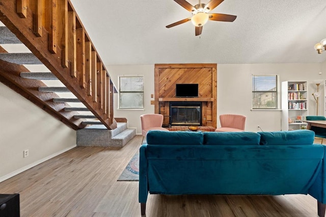
{"type": "Polygon", "coordinates": [[[149,131],[140,148],[139,202],[164,195],[309,194],[326,207],[326,146],[311,130],[149,131]]]}

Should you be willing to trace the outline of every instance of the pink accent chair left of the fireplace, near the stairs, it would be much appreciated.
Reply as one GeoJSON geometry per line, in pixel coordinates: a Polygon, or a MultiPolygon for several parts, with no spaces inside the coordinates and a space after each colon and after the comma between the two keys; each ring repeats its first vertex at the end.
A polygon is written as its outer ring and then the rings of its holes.
{"type": "Polygon", "coordinates": [[[164,130],[169,131],[162,127],[163,115],[160,114],[145,114],[141,115],[142,134],[146,138],[149,130],[164,130]]]}

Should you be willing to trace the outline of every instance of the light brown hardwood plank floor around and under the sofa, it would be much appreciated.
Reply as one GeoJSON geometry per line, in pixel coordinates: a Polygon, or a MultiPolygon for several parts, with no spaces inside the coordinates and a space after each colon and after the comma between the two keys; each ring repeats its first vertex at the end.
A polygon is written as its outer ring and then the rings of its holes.
{"type": "MultiPolygon", "coordinates": [[[[138,181],[117,181],[142,137],[125,147],[76,147],[0,183],[20,194],[21,216],[141,216],[138,181]]],[[[149,216],[317,216],[307,195],[149,195],[149,216]]]]}

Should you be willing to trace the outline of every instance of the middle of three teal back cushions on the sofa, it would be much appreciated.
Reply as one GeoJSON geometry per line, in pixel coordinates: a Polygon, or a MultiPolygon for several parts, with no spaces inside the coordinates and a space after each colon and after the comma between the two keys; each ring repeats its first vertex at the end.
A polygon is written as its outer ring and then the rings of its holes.
{"type": "Polygon", "coordinates": [[[204,132],[204,145],[259,145],[256,132],[204,132]]]}

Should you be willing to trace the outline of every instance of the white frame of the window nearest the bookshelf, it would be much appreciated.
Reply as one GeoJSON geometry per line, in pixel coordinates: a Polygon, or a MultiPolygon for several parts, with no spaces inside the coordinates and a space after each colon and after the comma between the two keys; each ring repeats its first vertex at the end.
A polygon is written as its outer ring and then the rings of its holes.
{"type": "Polygon", "coordinates": [[[251,76],[251,82],[252,82],[252,103],[251,103],[251,110],[252,111],[280,111],[281,107],[281,89],[280,89],[280,75],[278,74],[252,74],[251,76]],[[257,76],[276,76],[276,91],[254,91],[254,77],[257,76]],[[254,93],[275,93],[275,103],[276,107],[275,108],[254,108],[253,107],[253,102],[254,102],[254,93]]]}

